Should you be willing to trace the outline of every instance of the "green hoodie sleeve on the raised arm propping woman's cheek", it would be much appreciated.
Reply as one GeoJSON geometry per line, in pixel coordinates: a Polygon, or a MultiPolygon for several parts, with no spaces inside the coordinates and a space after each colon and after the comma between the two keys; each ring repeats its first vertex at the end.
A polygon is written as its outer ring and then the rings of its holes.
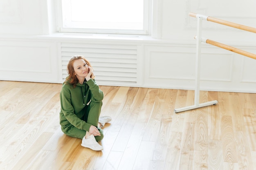
{"type": "Polygon", "coordinates": [[[104,95],[95,80],[90,79],[86,83],[88,84],[91,91],[91,100],[94,102],[101,102],[104,95]]]}

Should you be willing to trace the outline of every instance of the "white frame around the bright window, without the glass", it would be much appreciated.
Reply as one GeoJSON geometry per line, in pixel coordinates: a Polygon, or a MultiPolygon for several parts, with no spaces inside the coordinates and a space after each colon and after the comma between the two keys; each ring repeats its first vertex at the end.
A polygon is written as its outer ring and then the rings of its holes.
{"type": "Polygon", "coordinates": [[[143,30],[129,29],[86,29],[86,28],[65,28],[63,26],[62,0],[57,1],[57,24],[56,32],[60,33],[106,33],[106,34],[131,34],[131,35],[150,35],[152,20],[152,0],[144,0],[144,21],[143,30]]]}

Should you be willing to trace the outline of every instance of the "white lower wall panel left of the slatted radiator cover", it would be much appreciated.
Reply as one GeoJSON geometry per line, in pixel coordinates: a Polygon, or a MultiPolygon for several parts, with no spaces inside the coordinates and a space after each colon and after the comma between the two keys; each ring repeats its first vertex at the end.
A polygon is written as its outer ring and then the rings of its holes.
{"type": "Polygon", "coordinates": [[[0,41],[0,79],[59,82],[56,45],[38,41],[0,41]]]}

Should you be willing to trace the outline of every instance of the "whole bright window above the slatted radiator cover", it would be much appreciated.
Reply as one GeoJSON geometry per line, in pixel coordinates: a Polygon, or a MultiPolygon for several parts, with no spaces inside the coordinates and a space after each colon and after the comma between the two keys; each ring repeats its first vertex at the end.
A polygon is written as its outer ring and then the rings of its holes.
{"type": "Polygon", "coordinates": [[[61,0],[59,32],[148,34],[149,0],[61,0]]]}

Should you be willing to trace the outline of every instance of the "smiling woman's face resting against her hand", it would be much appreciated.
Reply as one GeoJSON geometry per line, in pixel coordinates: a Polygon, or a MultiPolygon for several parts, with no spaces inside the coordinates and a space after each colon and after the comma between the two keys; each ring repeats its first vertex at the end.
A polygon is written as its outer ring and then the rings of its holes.
{"type": "Polygon", "coordinates": [[[75,60],[73,63],[73,67],[74,67],[75,75],[78,79],[79,78],[84,79],[89,73],[88,66],[83,59],[75,60]]]}

